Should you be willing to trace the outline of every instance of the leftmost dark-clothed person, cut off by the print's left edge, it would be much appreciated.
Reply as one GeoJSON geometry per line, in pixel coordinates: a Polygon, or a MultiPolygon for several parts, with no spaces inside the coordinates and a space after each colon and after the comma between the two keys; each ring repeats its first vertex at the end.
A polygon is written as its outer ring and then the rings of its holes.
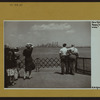
{"type": "Polygon", "coordinates": [[[15,84],[14,79],[14,69],[15,69],[15,55],[13,49],[5,46],[5,85],[8,87],[9,85],[15,84]]]}

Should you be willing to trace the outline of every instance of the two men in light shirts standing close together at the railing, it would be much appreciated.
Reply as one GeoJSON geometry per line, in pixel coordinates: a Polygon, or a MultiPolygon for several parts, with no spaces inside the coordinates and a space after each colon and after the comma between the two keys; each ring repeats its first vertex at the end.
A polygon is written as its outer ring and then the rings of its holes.
{"type": "Polygon", "coordinates": [[[67,44],[64,43],[63,47],[59,51],[59,56],[61,59],[61,74],[75,74],[76,59],[79,56],[78,49],[75,45],[71,45],[70,48],[66,47],[67,44]],[[64,69],[66,68],[66,71],[64,69]]]}

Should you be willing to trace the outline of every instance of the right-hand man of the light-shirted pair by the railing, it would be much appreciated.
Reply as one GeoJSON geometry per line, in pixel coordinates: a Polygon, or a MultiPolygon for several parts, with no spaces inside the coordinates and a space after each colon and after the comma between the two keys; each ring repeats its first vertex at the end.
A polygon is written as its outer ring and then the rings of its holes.
{"type": "Polygon", "coordinates": [[[71,47],[68,49],[69,51],[69,67],[70,67],[70,74],[75,74],[75,66],[76,66],[76,59],[79,57],[78,49],[75,47],[75,45],[71,45],[71,47]]]}

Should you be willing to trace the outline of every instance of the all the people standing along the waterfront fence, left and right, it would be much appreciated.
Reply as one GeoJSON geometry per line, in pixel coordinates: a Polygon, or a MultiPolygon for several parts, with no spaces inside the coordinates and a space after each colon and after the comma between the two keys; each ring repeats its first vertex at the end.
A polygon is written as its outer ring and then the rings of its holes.
{"type": "MultiPolygon", "coordinates": [[[[61,59],[61,73],[64,74],[64,68],[66,68],[66,74],[74,74],[76,58],[79,53],[77,48],[72,45],[70,48],[66,47],[67,44],[63,44],[63,48],[60,49],[59,55],[61,59]]],[[[24,56],[24,80],[32,78],[31,72],[35,69],[35,64],[32,59],[33,45],[27,43],[26,48],[23,50],[24,56]]],[[[15,80],[20,77],[21,66],[19,48],[10,48],[5,45],[5,87],[14,85],[15,80]]]]}

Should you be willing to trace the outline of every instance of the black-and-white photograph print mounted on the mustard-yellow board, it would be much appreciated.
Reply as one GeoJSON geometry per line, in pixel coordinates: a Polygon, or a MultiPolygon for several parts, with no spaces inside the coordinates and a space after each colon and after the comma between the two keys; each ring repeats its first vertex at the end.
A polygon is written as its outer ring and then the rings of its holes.
{"type": "Polygon", "coordinates": [[[91,21],[5,20],[4,88],[91,88],[91,21]]]}

